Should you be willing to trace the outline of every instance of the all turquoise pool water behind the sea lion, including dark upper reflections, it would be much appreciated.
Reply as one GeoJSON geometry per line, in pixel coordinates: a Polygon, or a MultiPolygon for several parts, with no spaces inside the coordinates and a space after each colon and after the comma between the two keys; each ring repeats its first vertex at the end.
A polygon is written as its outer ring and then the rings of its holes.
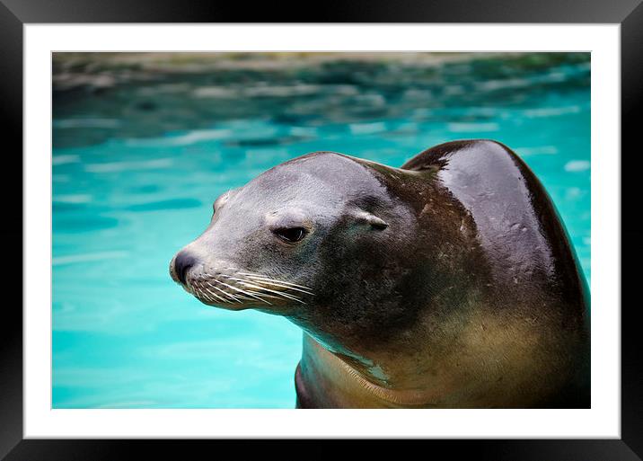
{"type": "Polygon", "coordinates": [[[55,407],[293,407],[298,328],[203,306],[167,268],[219,194],[315,150],[399,166],[498,139],[541,178],[589,279],[588,55],[279,59],[55,58],[55,407]]]}

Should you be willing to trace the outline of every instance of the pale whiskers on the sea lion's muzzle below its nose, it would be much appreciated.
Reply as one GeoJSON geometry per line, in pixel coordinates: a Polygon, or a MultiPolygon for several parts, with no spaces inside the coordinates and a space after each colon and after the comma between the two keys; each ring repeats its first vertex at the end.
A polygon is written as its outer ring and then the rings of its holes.
{"type": "Polygon", "coordinates": [[[280,301],[305,305],[304,297],[314,296],[311,288],[286,280],[272,279],[250,272],[204,273],[189,280],[189,291],[213,304],[247,304],[256,302],[272,306],[280,301]],[[272,301],[272,302],[270,302],[272,301]]]}

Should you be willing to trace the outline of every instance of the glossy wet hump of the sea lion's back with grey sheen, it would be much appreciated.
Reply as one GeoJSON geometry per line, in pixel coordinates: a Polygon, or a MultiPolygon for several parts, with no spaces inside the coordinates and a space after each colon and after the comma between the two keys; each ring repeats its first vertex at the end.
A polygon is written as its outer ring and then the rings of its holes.
{"type": "Polygon", "coordinates": [[[401,166],[430,172],[475,222],[501,284],[555,295],[586,315],[586,281],[568,233],[542,183],[507,146],[485,139],[431,147],[401,166]]]}

